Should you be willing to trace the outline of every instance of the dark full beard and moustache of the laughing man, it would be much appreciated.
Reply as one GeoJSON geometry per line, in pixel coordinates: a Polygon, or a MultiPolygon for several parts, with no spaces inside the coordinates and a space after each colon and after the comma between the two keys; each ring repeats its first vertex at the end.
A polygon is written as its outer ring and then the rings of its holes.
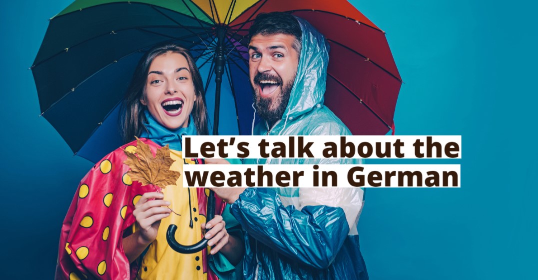
{"type": "MultiPolygon", "coordinates": [[[[297,73],[295,73],[296,75],[297,73]]],[[[284,111],[288,106],[289,97],[292,93],[293,83],[295,82],[295,75],[291,80],[289,80],[285,85],[280,83],[280,93],[278,96],[272,96],[272,98],[261,97],[258,93],[258,83],[260,80],[280,80],[275,76],[270,76],[266,74],[258,73],[254,78],[256,85],[252,85],[253,100],[254,106],[261,118],[263,118],[268,123],[273,124],[274,122],[280,120],[284,111]]]]}

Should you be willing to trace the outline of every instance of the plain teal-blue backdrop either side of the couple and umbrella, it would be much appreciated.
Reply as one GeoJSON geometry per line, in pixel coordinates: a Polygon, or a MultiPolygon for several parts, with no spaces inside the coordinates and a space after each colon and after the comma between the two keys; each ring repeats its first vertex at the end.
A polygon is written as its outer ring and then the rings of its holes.
{"type": "MultiPolygon", "coordinates": [[[[528,2],[352,1],[387,32],[404,79],[397,134],[463,142],[461,188],[368,191],[359,233],[372,279],[537,279],[538,23],[528,2]]],[[[61,222],[92,165],[38,117],[27,70],[47,18],[68,4],[0,4],[4,279],[53,278],[61,222]]]]}

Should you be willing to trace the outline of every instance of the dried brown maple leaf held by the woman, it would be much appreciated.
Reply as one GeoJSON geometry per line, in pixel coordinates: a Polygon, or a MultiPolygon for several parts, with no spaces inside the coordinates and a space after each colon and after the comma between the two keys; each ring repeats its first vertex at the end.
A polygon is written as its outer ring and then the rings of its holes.
{"type": "Polygon", "coordinates": [[[123,163],[131,169],[127,172],[131,180],[139,181],[143,186],[151,184],[165,188],[168,185],[175,185],[180,172],[170,170],[174,160],[170,157],[168,144],[158,148],[155,157],[151,153],[150,146],[138,138],[136,145],[136,153],[123,150],[127,155],[123,163]]]}

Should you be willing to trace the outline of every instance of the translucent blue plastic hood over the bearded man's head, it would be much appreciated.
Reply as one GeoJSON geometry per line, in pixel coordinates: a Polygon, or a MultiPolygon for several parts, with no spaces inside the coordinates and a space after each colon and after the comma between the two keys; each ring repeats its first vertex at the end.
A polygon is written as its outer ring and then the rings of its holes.
{"type": "Polygon", "coordinates": [[[323,104],[327,81],[329,44],[314,26],[302,18],[296,19],[301,26],[302,47],[288,106],[282,115],[283,120],[296,118],[312,110],[316,104],[323,104]]]}

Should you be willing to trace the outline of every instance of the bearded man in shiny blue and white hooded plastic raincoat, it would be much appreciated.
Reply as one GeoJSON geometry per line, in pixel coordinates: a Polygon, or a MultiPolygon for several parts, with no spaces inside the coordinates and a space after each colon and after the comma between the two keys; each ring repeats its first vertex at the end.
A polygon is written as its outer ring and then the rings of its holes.
{"type": "MultiPolygon", "coordinates": [[[[323,105],[328,45],[308,22],[259,15],[250,28],[258,135],[351,135],[323,105]]],[[[351,108],[350,108],[351,109],[351,108]]],[[[351,159],[258,159],[251,164],[356,164],[351,159]]],[[[246,279],[368,279],[359,250],[360,188],[216,188],[246,232],[246,279]]]]}

